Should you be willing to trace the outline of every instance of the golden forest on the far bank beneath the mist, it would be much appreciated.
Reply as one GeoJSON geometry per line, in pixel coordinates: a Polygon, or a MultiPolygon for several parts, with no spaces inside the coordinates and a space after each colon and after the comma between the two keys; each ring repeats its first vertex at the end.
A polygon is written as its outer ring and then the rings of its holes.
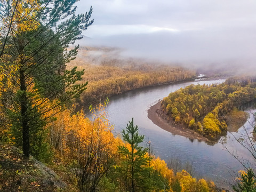
{"type": "Polygon", "coordinates": [[[104,101],[111,95],[141,87],[183,81],[196,76],[193,70],[141,60],[101,58],[98,64],[90,64],[77,58],[68,66],[72,65],[78,66],[78,69],[84,68],[83,82],[89,82],[79,101],[85,108],[104,101]]]}

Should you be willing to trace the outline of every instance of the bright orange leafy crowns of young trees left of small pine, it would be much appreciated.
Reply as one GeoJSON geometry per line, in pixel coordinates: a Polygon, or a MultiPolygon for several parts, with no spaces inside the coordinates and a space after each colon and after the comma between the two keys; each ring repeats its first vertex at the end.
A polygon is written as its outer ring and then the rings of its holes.
{"type": "Polygon", "coordinates": [[[92,110],[92,121],[83,111],[71,115],[70,110],[57,114],[57,121],[49,124],[51,144],[68,158],[83,161],[86,156],[97,158],[100,153],[113,156],[117,147],[105,108],[99,105],[92,110]]]}

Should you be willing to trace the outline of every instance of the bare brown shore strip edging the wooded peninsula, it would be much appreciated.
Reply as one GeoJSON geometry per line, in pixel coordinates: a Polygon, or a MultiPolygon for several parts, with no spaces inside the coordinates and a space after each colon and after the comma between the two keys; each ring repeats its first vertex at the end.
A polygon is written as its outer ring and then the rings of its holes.
{"type": "Polygon", "coordinates": [[[207,144],[216,143],[214,141],[210,141],[209,139],[203,137],[203,135],[196,133],[192,130],[185,129],[181,125],[174,125],[173,121],[167,121],[165,117],[161,117],[156,113],[157,110],[161,109],[161,101],[158,101],[155,105],[151,106],[148,109],[148,118],[161,129],[168,131],[174,135],[181,135],[182,137],[186,137],[189,139],[196,139],[199,142],[204,141],[207,144]]]}

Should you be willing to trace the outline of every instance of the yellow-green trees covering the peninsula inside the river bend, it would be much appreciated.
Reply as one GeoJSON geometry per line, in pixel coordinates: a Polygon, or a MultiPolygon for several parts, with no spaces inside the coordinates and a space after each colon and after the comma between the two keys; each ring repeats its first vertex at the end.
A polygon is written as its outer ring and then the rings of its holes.
{"type": "Polygon", "coordinates": [[[162,107],[175,123],[215,139],[227,132],[226,115],[256,100],[255,79],[234,77],[220,85],[189,85],[170,93],[162,107]]]}

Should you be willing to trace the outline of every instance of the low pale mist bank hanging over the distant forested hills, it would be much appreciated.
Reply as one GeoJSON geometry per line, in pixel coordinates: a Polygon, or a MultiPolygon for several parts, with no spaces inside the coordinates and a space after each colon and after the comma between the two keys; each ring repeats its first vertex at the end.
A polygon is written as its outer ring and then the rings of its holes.
{"type": "MultiPolygon", "coordinates": [[[[134,58],[155,63],[167,63],[206,72],[226,71],[230,75],[241,75],[256,69],[256,57],[249,48],[250,40],[218,39],[209,34],[170,34],[159,32],[148,35],[119,35],[105,39],[83,38],[81,46],[112,47],[109,58],[134,58]],[[204,39],[202,39],[204,38],[204,39]],[[209,39],[206,41],[205,39],[209,39]],[[223,41],[222,41],[223,40],[223,41]],[[238,42],[239,41],[239,42],[238,42]]],[[[228,37],[228,35],[227,35],[228,37]]],[[[91,51],[92,55],[105,54],[91,51]]]]}

